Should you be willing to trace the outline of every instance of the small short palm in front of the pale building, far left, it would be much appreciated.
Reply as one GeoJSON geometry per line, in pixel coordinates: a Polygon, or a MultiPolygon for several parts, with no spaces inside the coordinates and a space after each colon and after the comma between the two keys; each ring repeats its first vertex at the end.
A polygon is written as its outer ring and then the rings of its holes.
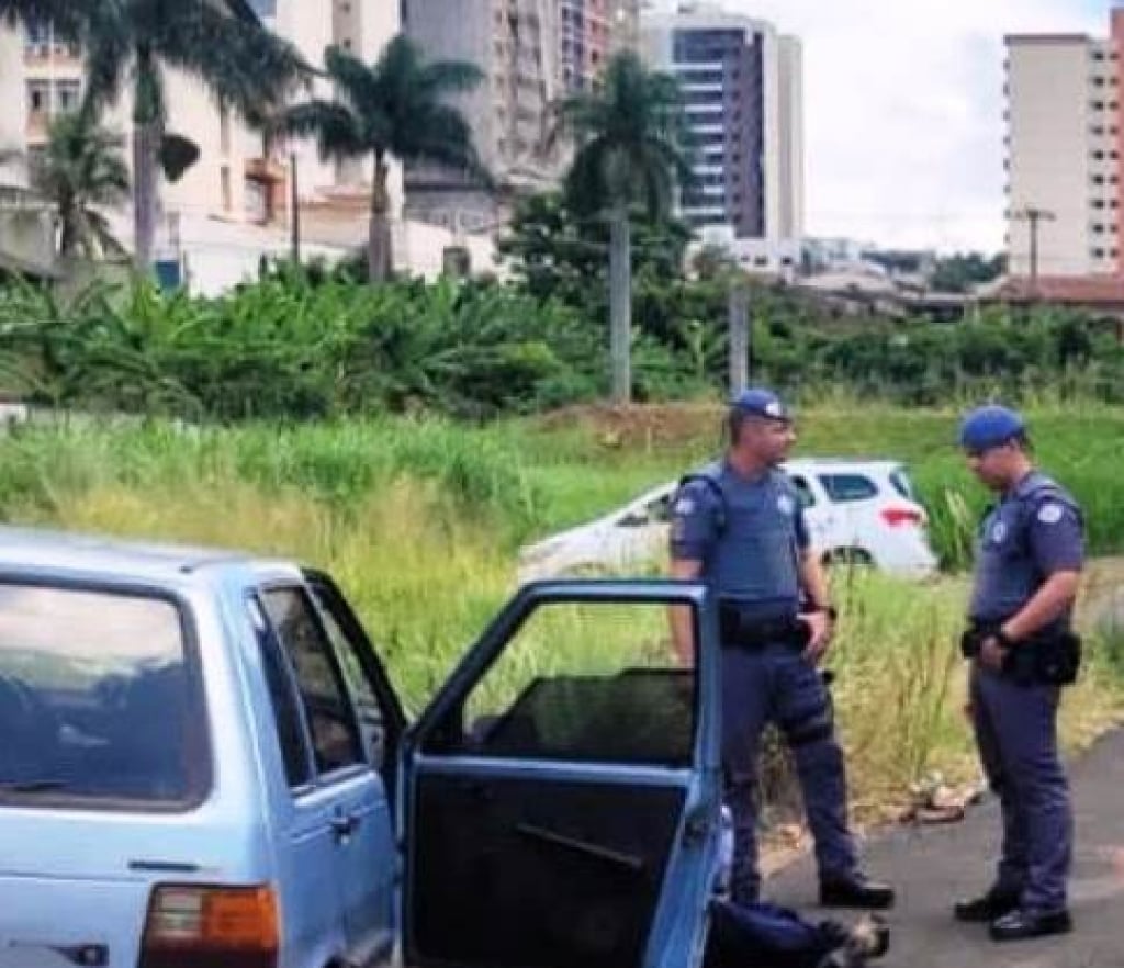
{"type": "Polygon", "coordinates": [[[31,189],[57,212],[63,259],[125,252],[98,210],[128,201],[129,170],[121,135],[85,114],[60,115],[51,123],[42,157],[31,162],[30,175],[31,189]]]}

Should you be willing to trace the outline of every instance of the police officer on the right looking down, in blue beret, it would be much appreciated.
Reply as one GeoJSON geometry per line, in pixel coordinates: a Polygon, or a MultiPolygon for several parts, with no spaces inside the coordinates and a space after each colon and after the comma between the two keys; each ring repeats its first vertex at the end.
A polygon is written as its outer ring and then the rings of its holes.
{"type": "Polygon", "coordinates": [[[998,495],[981,524],[964,634],[969,708],[980,759],[1003,809],[990,888],[959,902],[961,921],[996,941],[1071,930],[1066,880],[1072,812],[1058,757],[1060,686],[1077,672],[1070,628],[1085,558],[1073,498],[1034,469],[1023,418],[981,407],[960,427],[968,467],[998,495]]]}

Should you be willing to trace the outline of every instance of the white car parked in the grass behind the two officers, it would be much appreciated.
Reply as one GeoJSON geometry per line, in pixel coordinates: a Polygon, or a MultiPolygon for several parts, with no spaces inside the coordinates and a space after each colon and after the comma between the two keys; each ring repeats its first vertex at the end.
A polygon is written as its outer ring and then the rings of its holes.
{"type": "MultiPolygon", "coordinates": [[[[870,564],[909,578],[936,570],[925,508],[900,462],[801,458],[788,461],[785,470],[800,492],[812,544],[825,562],[870,564]]],[[[662,562],[678,487],[677,481],[661,485],[604,517],[527,545],[519,554],[519,579],[662,562]]]]}

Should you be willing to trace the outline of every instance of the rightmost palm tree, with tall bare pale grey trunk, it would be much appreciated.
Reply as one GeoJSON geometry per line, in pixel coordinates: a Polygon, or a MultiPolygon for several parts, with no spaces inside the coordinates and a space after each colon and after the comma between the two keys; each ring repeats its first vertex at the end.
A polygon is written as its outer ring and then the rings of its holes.
{"type": "Polygon", "coordinates": [[[559,133],[577,153],[565,194],[579,215],[609,219],[609,342],[613,400],[632,399],[632,242],[629,209],[641,202],[652,220],[671,210],[677,182],[690,181],[688,135],[679,84],[623,51],[591,91],[559,106],[559,133]]]}

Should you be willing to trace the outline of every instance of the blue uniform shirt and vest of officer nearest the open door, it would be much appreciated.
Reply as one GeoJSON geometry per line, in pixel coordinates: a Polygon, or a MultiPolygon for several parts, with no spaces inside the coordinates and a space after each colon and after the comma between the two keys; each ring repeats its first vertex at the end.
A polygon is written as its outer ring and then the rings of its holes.
{"type": "Polygon", "coordinates": [[[700,561],[703,580],[724,600],[796,612],[808,545],[799,494],[782,471],[750,479],[722,461],[676,495],[671,555],[700,561]]]}

